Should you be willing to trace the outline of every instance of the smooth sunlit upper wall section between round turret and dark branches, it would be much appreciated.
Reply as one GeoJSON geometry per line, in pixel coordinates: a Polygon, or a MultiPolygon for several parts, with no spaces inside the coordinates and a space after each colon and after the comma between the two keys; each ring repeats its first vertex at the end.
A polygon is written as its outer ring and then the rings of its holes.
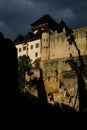
{"type": "Polygon", "coordinates": [[[50,59],[69,57],[69,44],[65,33],[50,35],[50,59]]]}

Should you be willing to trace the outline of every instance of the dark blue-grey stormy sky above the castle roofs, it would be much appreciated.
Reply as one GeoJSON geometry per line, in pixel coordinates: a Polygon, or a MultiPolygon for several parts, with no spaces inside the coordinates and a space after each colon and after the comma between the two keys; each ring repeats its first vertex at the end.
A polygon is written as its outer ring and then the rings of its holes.
{"type": "Polygon", "coordinates": [[[70,28],[86,27],[87,0],[0,0],[0,32],[11,39],[26,35],[45,14],[70,28]]]}

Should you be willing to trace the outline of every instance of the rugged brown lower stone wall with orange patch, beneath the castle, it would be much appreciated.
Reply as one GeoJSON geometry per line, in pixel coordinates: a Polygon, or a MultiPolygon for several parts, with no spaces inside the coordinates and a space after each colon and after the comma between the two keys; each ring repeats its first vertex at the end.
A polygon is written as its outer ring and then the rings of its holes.
{"type": "Polygon", "coordinates": [[[66,59],[41,61],[48,102],[64,103],[71,107],[75,104],[75,109],[78,109],[77,76],[65,61],[66,59]]]}

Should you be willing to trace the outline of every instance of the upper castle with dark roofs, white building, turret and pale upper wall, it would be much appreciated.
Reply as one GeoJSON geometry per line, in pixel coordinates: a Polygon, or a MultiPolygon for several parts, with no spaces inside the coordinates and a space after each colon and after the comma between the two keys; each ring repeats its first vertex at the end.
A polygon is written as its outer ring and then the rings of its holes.
{"type": "MultiPolygon", "coordinates": [[[[75,48],[68,44],[66,31],[69,27],[63,20],[58,24],[49,15],[44,15],[31,26],[32,32],[28,32],[25,36],[19,35],[14,40],[18,57],[29,55],[33,63],[37,58],[45,61],[67,58],[70,53],[77,56],[75,48]]],[[[81,55],[86,55],[87,27],[74,29],[73,32],[81,55]]]]}

